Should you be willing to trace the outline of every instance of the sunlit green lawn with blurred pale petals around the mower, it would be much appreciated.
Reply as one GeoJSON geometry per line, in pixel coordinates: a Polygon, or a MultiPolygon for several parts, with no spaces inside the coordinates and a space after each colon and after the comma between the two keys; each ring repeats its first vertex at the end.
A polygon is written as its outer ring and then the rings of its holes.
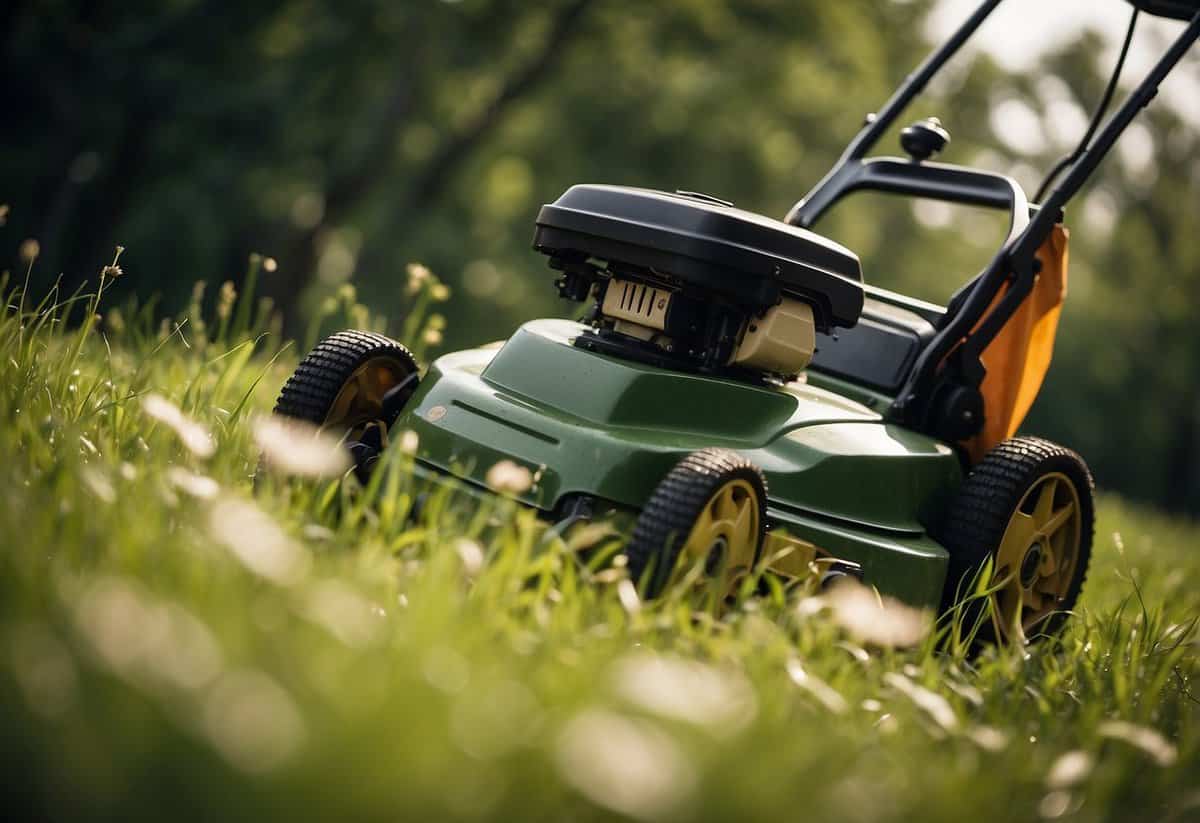
{"type": "Polygon", "coordinates": [[[1200,529],[1104,477],[1058,642],[888,648],[812,593],[641,602],[508,501],[414,522],[404,447],[256,483],[298,347],[229,289],[4,296],[8,819],[1200,819],[1200,529]]]}

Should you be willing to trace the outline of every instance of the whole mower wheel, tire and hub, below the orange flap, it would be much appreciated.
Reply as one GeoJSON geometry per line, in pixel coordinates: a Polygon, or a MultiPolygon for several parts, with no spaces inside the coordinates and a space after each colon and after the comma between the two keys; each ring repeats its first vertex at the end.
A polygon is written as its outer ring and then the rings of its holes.
{"type": "Polygon", "coordinates": [[[1019,437],[989,451],[940,531],[950,553],[942,611],[961,606],[964,626],[979,625],[983,642],[1062,629],[1087,576],[1092,489],[1084,458],[1049,440],[1019,437]],[[988,567],[991,578],[980,587],[988,567]]]}

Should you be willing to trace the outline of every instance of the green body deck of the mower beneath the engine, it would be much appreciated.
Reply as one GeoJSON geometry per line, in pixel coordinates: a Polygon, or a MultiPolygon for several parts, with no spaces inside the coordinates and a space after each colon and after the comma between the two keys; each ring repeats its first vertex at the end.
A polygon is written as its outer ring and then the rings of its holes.
{"type": "Polygon", "coordinates": [[[528,467],[520,497],[542,510],[571,493],[640,509],[688,452],[734,449],[763,469],[773,521],[862,563],[881,590],[936,605],[946,552],[923,523],[961,482],[952,449],[828,389],[620,360],[571,346],[583,331],[535,320],[500,348],[440,358],[396,431],[476,486],[499,461],[528,467]]]}

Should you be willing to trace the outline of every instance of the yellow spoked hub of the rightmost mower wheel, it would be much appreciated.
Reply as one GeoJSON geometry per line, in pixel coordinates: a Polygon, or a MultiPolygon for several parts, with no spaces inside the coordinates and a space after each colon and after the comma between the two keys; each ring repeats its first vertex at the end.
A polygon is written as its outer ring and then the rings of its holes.
{"type": "Polygon", "coordinates": [[[992,621],[1024,635],[1067,600],[1079,564],[1082,509],[1067,475],[1038,479],[1021,498],[996,551],[992,621]]]}

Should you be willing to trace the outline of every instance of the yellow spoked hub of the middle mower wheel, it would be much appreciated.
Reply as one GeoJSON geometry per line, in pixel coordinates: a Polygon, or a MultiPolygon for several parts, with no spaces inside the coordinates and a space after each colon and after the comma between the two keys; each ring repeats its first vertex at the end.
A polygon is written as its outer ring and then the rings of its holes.
{"type": "Polygon", "coordinates": [[[754,486],[730,480],[701,509],[676,569],[686,570],[703,559],[709,575],[719,576],[721,593],[730,595],[754,566],[761,530],[762,511],[754,486]]]}

